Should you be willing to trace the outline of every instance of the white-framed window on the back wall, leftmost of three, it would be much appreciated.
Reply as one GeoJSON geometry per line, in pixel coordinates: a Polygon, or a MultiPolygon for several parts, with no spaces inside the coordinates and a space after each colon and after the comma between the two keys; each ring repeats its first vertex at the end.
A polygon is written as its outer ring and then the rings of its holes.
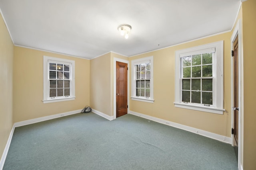
{"type": "Polygon", "coordinates": [[[44,103],[74,100],[75,62],[44,56],[44,103]]]}

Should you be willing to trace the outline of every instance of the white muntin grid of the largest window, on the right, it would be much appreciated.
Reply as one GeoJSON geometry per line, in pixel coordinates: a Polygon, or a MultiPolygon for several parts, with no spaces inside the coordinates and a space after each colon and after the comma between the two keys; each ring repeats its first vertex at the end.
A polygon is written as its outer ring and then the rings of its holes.
{"type": "Polygon", "coordinates": [[[203,66],[208,66],[208,65],[212,65],[212,75],[214,74],[214,71],[213,71],[213,59],[214,59],[214,52],[212,52],[212,53],[200,53],[200,54],[194,54],[194,55],[188,55],[188,56],[185,56],[185,57],[180,57],[180,63],[181,63],[181,78],[180,78],[180,88],[181,88],[181,97],[180,97],[180,99],[181,99],[181,102],[183,102],[183,103],[191,103],[191,104],[195,104],[195,105],[200,105],[200,106],[212,106],[213,105],[213,97],[214,97],[214,94],[213,94],[213,85],[214,85],[214,77],[213,76],[211,76],[211,77],[203,77],[203,66]],[[212,56],[211,56],[211,58],[212,58],[212,62],[210,63],[210,64],[203,64],[203,55],[204,54],[212,54],[212,56]],[[197,65],[193,65],[193,57],[192,56],[196,56],[196,55],[201,55],[201,61],[200,61],[200,64],[197,64],[197,65]],[[187,59],[189,59],[188,61],[190,62],[190,65],[187,65],[187,66],[184,66],[184,58],[187,58],[187,59]],[[192,68],[193,67],[196,67],[196,66],[200,66],[201,67],[201,69],[200,69],[200,74],[201,74],[201,76],[200,77],[193,77],[193,75],[192,75],[192,68]],[[186,78],[184,78],[184,68],[190,68],[190,77],[186,77],[186,78]],[[200,79],[200,90],[192,90],[192,80],[193,79],[200,79]],[[202,90],[202,79],[212,79],[212,91],[205,91],[205,90],[202,90]],[[183,80],[190,80],[190,90],[183,90],[183,80]],[[189,97],[189,99],[190,99],[190,101],[189,102],[184,102],[183,101],[183,92],[190,92],[190,97],[189,97]],[[192,103],[192,92],[200,92],[200,104],[199,103],[192,103]],[[203,104],[202,103],[202,100],[203,100],[203,98],[202,98],[202,94],[203,94],[203,92],[207,92],[207,93],[211,93],[212,94],[212,100],[211,100],[211,104],[203,104]]]}

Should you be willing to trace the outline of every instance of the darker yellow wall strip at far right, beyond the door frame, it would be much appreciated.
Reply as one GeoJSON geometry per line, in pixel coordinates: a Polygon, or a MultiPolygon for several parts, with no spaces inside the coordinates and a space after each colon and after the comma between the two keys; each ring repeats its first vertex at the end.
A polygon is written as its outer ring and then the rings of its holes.
{"type": "Polygon", "coordinates": [[[242,4],[244,48],[244,170],[256,168],[256,0],[242,4]]]}

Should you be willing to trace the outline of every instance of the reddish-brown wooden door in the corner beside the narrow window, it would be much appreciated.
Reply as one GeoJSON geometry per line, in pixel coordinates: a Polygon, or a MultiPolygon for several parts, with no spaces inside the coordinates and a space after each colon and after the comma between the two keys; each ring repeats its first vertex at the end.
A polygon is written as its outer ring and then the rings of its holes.
{"type": "Polygon", "coordinates": [[[116,62],[116,117],[127,114],[127,64],[116,62]]]}

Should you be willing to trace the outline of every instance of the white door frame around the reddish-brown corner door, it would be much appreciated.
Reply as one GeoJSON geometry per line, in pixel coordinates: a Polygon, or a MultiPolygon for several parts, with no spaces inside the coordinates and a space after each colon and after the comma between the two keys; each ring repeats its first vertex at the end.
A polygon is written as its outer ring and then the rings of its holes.
{"type": "Polygon", "coordinates": [[[130,69],[130,65],[129,65],[129,61],[128,60],[123,60],[123,59],[119,59],[119,58],[116,58],[114,57],[113,58],[113,112],[114,112],[114,117],[113,119],[116,119],[116,62],[122,62],[122,63],[126,63],[127,66],[128,66],[128,71],[127,71],[127,105],[128,105],[128,108],[127,108],[127,112],[129,113],[129,89],[130,89],[130,81],[129,81],[129,69],[130,69]]]}

